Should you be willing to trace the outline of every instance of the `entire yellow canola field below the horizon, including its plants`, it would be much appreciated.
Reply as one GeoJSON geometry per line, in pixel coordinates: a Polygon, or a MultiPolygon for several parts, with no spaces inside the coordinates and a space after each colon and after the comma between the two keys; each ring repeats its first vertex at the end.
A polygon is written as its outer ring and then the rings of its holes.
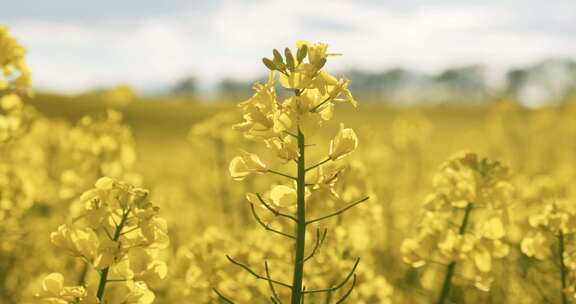
{"type": "Polygon", "coordinates": [[[34,92],[0,27],[0,303],[576,301],[576,99],[363,102],[327,47],[127,103],[34,92]]]}

